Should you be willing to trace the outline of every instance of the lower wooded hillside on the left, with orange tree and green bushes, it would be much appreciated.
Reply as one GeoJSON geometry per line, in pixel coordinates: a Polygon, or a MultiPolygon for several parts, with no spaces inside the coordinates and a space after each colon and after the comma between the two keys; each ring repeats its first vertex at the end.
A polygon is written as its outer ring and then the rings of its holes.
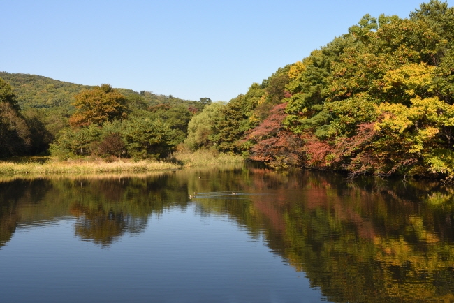
{"type": "Polygon", "coordinates": [[[52,143],[61,158],[166,156],[186,138],[193,114],[211,103],[6,72],[0,73],[0,95],[0,157],[48,153],[52,143]],[[135,138],[126,139],[126,124],[135,138]],[[109,131],[101,135],[103,129],[109,131]]]}

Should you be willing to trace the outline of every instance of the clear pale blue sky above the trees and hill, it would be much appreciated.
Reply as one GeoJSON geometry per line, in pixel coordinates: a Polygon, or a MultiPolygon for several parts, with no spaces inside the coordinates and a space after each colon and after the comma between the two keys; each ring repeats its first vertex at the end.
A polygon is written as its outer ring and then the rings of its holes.
{"type": "Polygon", "coordinates": [[[228,101],[366,13],[421,2],[1,0],[0,71],[228,101]]]}

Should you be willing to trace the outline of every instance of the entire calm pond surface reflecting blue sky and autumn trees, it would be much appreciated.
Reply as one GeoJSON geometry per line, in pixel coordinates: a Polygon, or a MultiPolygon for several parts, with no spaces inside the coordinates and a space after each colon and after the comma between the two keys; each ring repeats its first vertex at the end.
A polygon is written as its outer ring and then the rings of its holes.
{"type": "Polygon", "coordinates": [[[453,302],[454,188],[244,166],[0,177],[1,302],[453,302]]]}

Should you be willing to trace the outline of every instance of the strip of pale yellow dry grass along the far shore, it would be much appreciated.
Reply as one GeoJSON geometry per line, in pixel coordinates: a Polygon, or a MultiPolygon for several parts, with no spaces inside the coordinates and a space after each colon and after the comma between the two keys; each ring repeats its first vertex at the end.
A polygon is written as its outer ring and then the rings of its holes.
{"type": "Polygon", "coordinates": [[[131,161],[128,159],[105,162],[98,159],[57,161],[52,158],[20,158],[20,161],[0,161],[0,175],[49,175],[49,174],[96,174],[96,173],[142,173],[158,170],[177,170],[200,165],[240,163],[241,156],[216,154],[212,151],[177,152],[166,161],[131,161]]]}

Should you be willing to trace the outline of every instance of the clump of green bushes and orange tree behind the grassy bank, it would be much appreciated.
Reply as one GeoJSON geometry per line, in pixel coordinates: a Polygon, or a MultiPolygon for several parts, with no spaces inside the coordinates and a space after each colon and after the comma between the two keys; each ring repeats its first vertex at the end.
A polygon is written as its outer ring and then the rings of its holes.
{"type": "MultiPolygon", "coordinates": [[[[182,107],[166,108],[157,117],[156,110],[136,109],[128,117],[128,99],[109,84],[82,91],[74,98],[77,110],[69,119],[71,127],[64,128],[50,146],[54,156],[162,158],[184,139],[180,124],[175,122],[172,128],[168,123],[174,115],[184,115],[182,107]]],[[[186,109],[186,115],[189,113],[186,109]]]]}

